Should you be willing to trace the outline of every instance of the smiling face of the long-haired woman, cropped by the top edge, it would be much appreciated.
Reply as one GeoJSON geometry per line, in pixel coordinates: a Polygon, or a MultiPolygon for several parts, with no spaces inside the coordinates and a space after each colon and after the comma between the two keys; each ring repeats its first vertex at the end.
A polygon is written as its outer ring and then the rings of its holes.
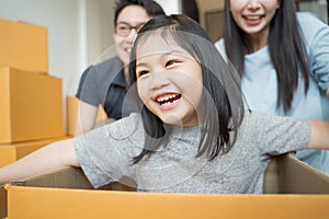
{"type": "Polygon", "coordinates": [[[229,0],[236,24],[248,35],[268,37],[280,0],[229,0]]]}

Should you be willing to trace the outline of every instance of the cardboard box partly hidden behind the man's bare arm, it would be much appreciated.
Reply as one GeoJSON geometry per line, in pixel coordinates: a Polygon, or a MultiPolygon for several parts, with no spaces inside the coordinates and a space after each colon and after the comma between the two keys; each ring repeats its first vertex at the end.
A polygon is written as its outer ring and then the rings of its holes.
{"type": "MultiPolygon", "coordinates": [[[[67,135],[75,136],[76,132],[76,124],[78,119],[78,111],[79,111],[79,99],[76,96],[67,96],[66,97],[66,112],[67,112],[67,135]]],[[[107,115],[104,112],[102,105],[99,105],[98,115],[95,123],[106,119],[107,115]]]]}

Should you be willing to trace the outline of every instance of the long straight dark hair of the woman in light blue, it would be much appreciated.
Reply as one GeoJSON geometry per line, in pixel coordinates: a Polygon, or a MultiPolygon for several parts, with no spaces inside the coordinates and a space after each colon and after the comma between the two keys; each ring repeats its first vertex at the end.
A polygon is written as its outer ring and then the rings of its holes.
{"type": "MultiPolygon", "coordinates": [[[[309,85],[309,67],[304,38],[299,31],[293,0],[281,0],[270,23],[269,51],[277,76],[277,108],[285,113],[292,107],[294,93],[298,88],[299,71],[304,78],[305,93],[309,85]]],[[[235,23],[229,0],[225,0],[224,39],[228,60],[232,62],[240,76],[245,71],[245,55],[252,51],[251,43],[235,23]]]]}

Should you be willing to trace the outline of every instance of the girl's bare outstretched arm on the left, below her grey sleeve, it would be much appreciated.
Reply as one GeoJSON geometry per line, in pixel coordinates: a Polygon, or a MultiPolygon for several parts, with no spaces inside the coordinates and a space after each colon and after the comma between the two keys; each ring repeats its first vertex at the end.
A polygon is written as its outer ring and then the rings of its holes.
{"type": "Polygon", "coordinates": [[[80,166],[72,139],[50,143],[0,168],[0,185],[64,166],[80,166]]]}

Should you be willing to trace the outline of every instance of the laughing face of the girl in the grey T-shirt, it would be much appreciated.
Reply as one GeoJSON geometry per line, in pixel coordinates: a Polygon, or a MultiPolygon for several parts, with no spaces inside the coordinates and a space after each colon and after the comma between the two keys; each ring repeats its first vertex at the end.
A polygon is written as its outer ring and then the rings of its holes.
{"type": "Polygon", "coordinates": [[[136,49],[138,94],[163,123],[196,126],[203,92],[200,64],[173,41],[149,36],[136,49]]]}

